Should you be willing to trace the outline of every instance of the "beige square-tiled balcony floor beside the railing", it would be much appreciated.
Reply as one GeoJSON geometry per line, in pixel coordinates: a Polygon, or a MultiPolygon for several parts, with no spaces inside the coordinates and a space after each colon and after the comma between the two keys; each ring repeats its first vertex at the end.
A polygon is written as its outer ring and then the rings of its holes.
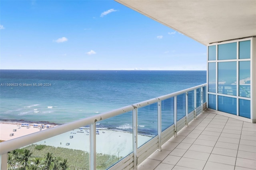
{"type": "Polygon", "coordinates": [[[138,170],[256,170],[256,123],[205,111],[138,170]]]}

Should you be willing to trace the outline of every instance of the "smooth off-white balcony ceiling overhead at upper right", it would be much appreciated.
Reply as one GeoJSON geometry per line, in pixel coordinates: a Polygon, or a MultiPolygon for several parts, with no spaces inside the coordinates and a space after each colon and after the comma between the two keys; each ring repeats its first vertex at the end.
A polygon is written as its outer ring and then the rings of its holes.
{"type": "Polygon", "coordinates": [[[204,45],[256,36],[256,0],[116,0],[204,45]]]}

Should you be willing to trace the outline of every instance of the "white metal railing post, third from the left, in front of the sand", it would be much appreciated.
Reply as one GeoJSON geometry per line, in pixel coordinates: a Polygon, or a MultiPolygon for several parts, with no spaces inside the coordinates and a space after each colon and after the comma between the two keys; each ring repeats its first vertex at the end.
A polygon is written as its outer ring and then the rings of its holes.
{"type": "Polygon", "coordinates": [[[138,169],[138,109],[133,109],[132,111],[132,126],[133,126],[133,131],[132,131],[132,138],[133,138],[133,169],[137,170],[138,169]]]}

